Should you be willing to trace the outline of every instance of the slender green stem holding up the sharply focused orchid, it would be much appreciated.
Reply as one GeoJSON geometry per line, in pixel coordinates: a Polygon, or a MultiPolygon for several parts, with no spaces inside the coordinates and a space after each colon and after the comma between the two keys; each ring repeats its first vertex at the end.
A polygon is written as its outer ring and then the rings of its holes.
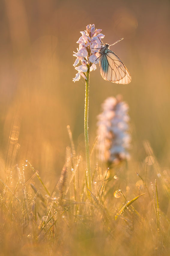
{"type": "Polygon", "coordinates": [[[88,105],[89,105],[89,77],[90,77],[90,67],[88,67],[86,73],[87,80],[85,80],[85,117],[84,117],[84,133],[85,133],[85,152],[86,152],[86,163],[87,163],[87,173],[88,173],[88,186],[89,190],[92,192],[91,186],[91,170],[90,170],[90,152],[89,152],[89,142],[88,142],[88,105]]]}

